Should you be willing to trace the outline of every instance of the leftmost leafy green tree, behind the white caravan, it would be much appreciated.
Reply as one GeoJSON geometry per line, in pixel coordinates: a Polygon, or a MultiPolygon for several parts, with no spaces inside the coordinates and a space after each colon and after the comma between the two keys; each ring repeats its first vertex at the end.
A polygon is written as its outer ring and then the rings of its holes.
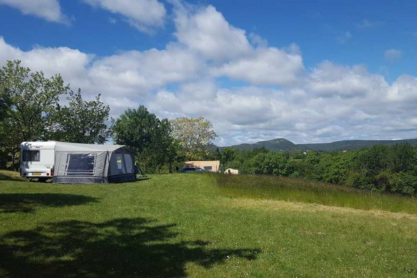
{"type": "Polygon", "coordinates": [[[60,75],[48,79],[19,60],[0,68],[0,167],[16,169],[22,141],[48,138],[58,97],[69,90],[60,75]]]}

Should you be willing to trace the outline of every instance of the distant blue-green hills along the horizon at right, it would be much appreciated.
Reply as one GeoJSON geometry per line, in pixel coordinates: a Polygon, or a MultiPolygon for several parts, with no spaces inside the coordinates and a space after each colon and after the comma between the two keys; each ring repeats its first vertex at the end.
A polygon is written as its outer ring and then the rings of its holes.
{"type": "MultiPolygon", "coordinates": [[[[265,147],[270,151],[295,151],[295,150],[316,150],[316,151],[347,151],[352,149],[363,149],[372,145],[395,145],[408,142],[411,145],[417,145],[417,139],[404,140],[343,140],[329,143],[313,143],[313,144],[294,144],[284,138],[277,138],[266,141],[259,141],[254,144],[233,145],[235,149],[255,149],[265,147]]],[[[216,148],[212,146],[212,148],[216,148]]],[[[219,147],[223,149],[225,147],[219,147]]]]}

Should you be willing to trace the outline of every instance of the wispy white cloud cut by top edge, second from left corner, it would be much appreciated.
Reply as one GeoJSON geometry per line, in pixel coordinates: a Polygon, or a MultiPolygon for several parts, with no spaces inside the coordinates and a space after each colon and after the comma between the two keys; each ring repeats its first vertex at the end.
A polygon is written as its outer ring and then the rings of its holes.
{"type": "Polygon", "coordinates": [[[158,0],[84,0],[95,8],[122,15],[126,22],[143,32],[152,32],[163,26],[166,15],[163,3],[158,0]]]}

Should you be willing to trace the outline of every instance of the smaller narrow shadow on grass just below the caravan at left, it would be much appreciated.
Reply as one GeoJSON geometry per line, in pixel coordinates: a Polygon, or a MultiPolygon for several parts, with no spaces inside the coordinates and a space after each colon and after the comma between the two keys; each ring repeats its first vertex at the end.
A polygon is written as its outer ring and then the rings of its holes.
{"type": "Polygon", "coordinates": [[[94,197],[73,194],[0,194],[0,213],[33,213],[39,206],[77,206],[98,200],[94,197]]]}

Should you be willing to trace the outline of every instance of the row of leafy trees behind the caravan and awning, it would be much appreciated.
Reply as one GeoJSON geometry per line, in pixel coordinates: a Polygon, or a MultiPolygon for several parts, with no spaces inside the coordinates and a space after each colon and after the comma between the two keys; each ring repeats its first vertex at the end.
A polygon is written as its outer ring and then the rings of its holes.
{"type": "Polygon", "coordinates": [[[117,119],[109,115],[100,94],[86,101],[60,74],[47,78],[19,60],[8,61],[0,68],[0,168],[17,170],[24,141],[104,144],[112,139],[131,147],[145,171],[172,171],[186,160],[205,158],[206,145],[216,137],[204,117],[161,120],[145,106],[129,108],[117,119]]]}

